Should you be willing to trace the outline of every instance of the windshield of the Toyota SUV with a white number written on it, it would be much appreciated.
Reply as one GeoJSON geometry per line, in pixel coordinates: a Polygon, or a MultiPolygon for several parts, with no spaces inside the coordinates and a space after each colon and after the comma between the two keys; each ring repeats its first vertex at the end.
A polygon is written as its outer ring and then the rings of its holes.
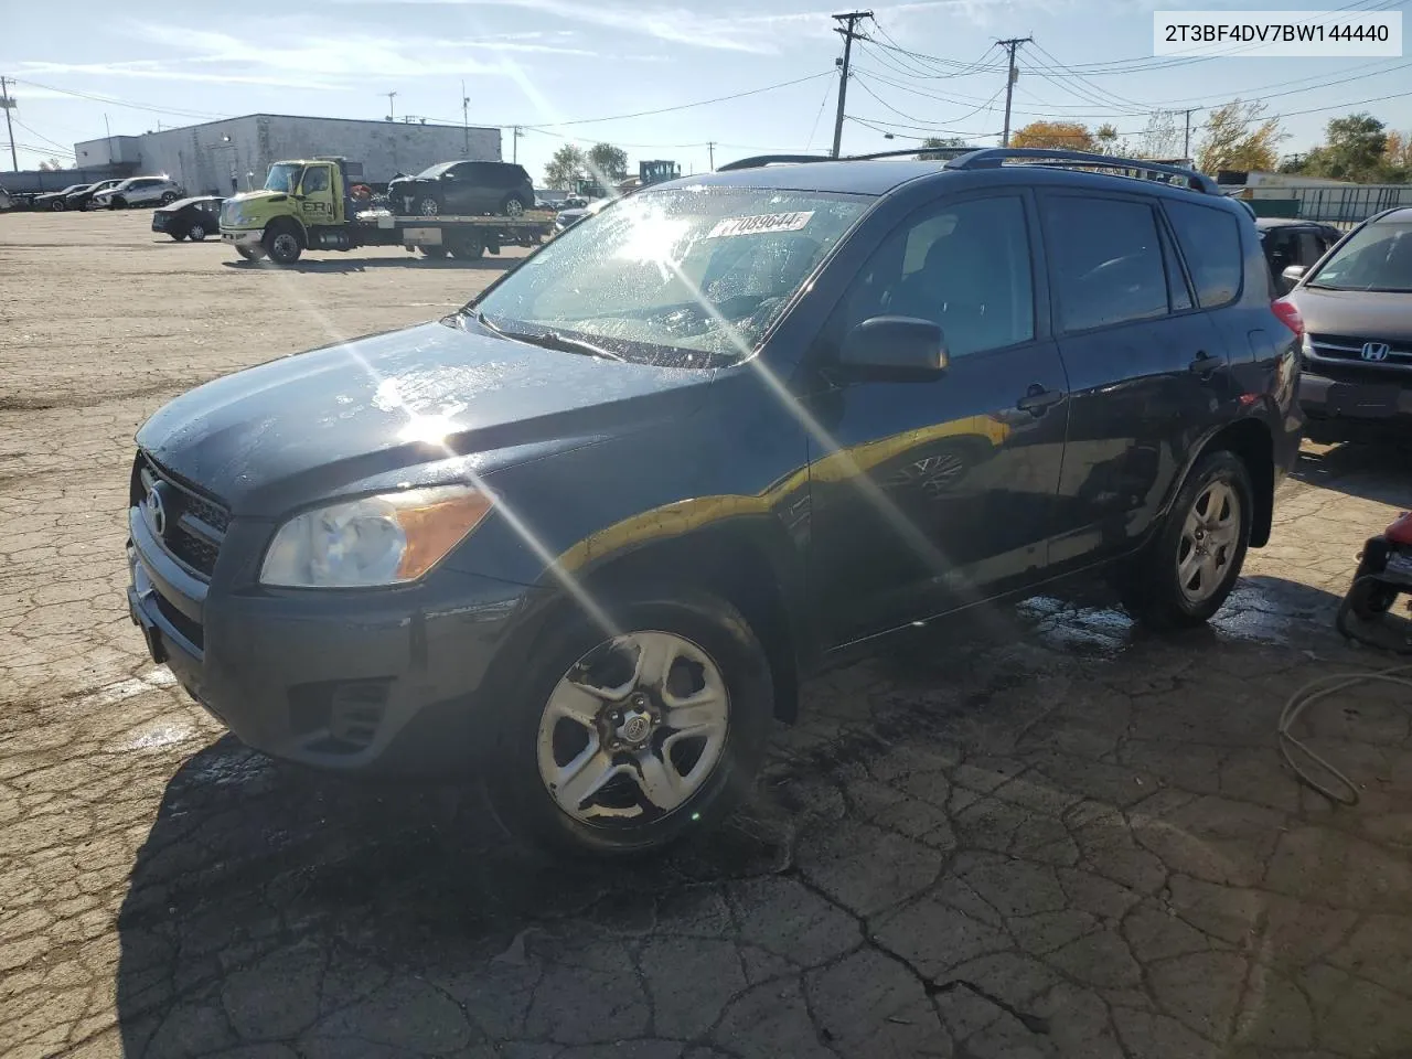
{"type": "Polygon", "coordinates": [[[641,192],[568,229],[476,308],[500,330],[578,336],[628,360],[738,359],[870,202],[753,188],[641,192]]]}

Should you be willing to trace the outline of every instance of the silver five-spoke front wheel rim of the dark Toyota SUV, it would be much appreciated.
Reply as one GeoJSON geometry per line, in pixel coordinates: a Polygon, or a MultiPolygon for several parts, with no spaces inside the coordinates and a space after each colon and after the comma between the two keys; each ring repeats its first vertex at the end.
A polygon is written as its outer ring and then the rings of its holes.
{"type": "Polygon", "coordinates": [[[549,693],[539,778],[582,823],[655,820],[712,775],[729,726],[730,693],[706,651],[674,633],[628,633],[579,658],[549,693]]]}

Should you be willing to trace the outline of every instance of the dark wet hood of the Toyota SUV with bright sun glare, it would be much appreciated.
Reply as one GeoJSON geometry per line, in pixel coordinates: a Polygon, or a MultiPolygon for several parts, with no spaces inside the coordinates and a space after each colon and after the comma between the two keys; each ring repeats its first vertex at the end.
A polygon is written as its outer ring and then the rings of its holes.
{"type": "Polygon", "coordinates": [[[277,517],[679,421],[713,376],[426,323],[206,383],[161,408],[137,443],[234,514],[277,517]]]}

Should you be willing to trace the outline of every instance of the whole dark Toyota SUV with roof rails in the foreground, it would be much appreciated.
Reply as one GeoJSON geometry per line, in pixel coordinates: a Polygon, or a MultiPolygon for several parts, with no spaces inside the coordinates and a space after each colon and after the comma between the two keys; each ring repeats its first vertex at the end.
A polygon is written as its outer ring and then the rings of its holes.
{"type": "Polygon", "coordinates": [[[654,849],[887,634],[1065,578],[1209,618],[1296,455],[1299,332],[1185,169],[747,160],[160,409],[131,616],[253,747],[654,849]]]}

